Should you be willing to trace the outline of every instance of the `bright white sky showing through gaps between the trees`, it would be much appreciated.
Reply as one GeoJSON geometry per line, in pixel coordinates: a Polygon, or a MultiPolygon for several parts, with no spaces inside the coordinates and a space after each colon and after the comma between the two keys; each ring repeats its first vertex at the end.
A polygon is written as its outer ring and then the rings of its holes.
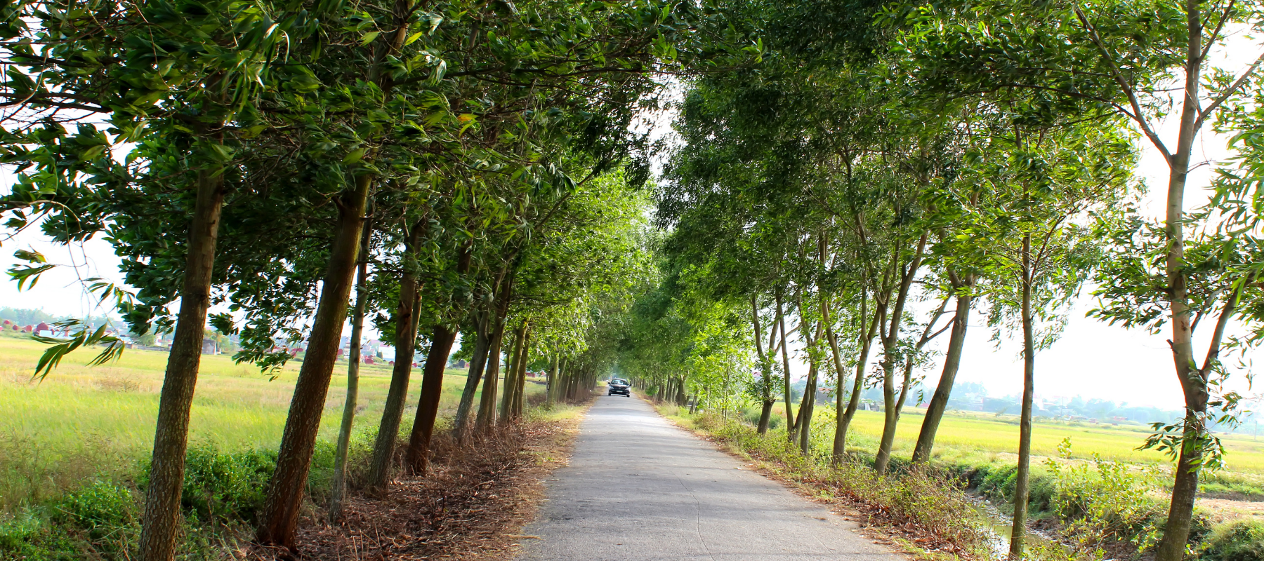
{"type": "MultiPolygon", "coordinates": [[[[1230,40],[1227,49],[1212,53],[1212,58],[1213,63],[1221,67],[1245,68],[1258,52],[1254,40],[1239,34],[1230,40]]],[[[655,135],[670,136],[671,116],[669,112],[655,119],[655,135]]],[[[1226,147],[1227,139],[1210,129],[1208,125],[1198,138],[1196,163],[1222,162],[1231,155],[1226,147]]],[[[1167,142],[1173,142],[1176,138],[1173,120],[1164,121],[1159,131],[1167,142]]],[[[1139,147],[1141,158],[1135,174],[1149,186],[1141,210],[1152,217],[1162,217],[1168,168],[1159,152],[1148,142],[1140,142],[1139,147]]],[[[1187,208],[1197,207],[1207,200],[1206,187],[1211,177],[1212,166],[1202,166],[1191,173],[1187,208]]],[[[9,178],[0,172],[0,184],[10,184],[9,178]]],[[[118,270],[119,258],[114,255],[110,244],[100,239],[64,248],[49,244],[38,231],[0,238],[0,269],[8,270],[16,263],[13,256],[16,249],[35,249],[52,263],[78,267],[49,270],[44,273],[38,286],[23,292],[18,292],[16,284],[6,278],[0,279],[0,307],[43,308],[57,316],[100,315],[105,310],[85,293],[80,279],[102,277],[121,282],[118,270]]],[[[1086,289],[1074,302],[1062,337],[1052,347],[1038,354],[1036,395],[1043,398],[1082,395],[1165,409],[1181,407],[1183,398],[1176,380],[1172,354],[1165,342],[1167,334],[1152,335],[1143,330],[1125,330],[1085,317],[1085,312],[1093,306],[1093,299],[1087,296],[1090,292],[1086,289]]],[[[1206,337],[1206,331],[1210,330],[1201,331],[1206,337]]],[[[377,334],[369,336],[375,337],[377,334]]],[[[947,335],[940,336],[932,344],[932,350],[942,350],[947,346],[947,335]]],[[[957,379],[982,383],[992,395],[1016,395],[1023,389],[1019,341],[1002,337],[997,344],[991,339],[992,330],[986,325],[983,312],[976,310],[957,379]]],[[[1203,353],[1205,345],[1202,345],[1203,353]]],[[[1198,347],[1196,345],[1196,350],[1198,347]]],[[[1198,355],[1201,356],[1201,353],[1198,355]]],[[[935,361],[923,373],[928,387],[938,382],[939,368],[935,361]]],[[[801,375],[806,371],[806,366],[795,364],[791,371],[801,375]]],[[[1244,378],[1239,375],[1236,380],[1235,388],[1246,390],[1244,378]]],[[[1255,389],[1253,393],[1258,394],[1259,390],[1255,389]]]]}

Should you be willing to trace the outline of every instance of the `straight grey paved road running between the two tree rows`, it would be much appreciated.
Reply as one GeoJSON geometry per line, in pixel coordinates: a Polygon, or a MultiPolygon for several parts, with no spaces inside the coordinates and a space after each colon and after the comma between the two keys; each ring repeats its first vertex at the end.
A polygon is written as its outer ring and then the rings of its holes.
{"type": "Polygon", "coordinates": [[[520,560],[902,561],[638,398],[600,397],[520,560]]]}

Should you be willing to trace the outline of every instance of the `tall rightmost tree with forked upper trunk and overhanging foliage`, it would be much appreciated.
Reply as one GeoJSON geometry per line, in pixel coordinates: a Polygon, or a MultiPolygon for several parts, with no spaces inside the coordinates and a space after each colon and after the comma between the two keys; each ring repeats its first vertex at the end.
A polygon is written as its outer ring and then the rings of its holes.
{"type": "Polygon", "coordinates": [[[1087,104],[1093,112],[1126,119],[1168,164],[1164,216],[1165,284],[1152,287],[1167,302],[1172,359],[1186,397],[1177,423],[1181,455],[1159,561],[1184,556],[1207,438],[1208,378],[1193,355],[1191,264],[1186,262],[1186,187],[1194,140],[1208,120],[1256,90],[1264,63],[1206,68],[1227,32],[1253,28],[1259,6],[1235,1],[1178,4],[1059,1],[1026,4],[944,3],[892,5],[886,20],[901,27],[895,48],[908,54],[914,80],[938,90],[991,95],[1012,88],[1049,94],[1054,105],[1087,104]],[[1176,85],[1173,88],[1172,86],[1176,85]],[[1155,126],[1179,105],[1174,142],[1155,126]]]}

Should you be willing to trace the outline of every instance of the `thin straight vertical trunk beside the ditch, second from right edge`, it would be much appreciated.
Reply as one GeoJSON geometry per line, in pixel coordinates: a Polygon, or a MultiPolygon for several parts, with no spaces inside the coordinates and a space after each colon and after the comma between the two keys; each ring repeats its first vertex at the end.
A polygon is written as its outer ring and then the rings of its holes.
{"type": "Polygon", "coordinates": [[[1035,326],[1031,318],[1031,235],[1023,236],[1023,416],[1019,419],[1019,470],[1014,475],[1014,528],[1010,561],[1023,558],[1031,473],[1031,399],[1035,394],[1035,326]]]}

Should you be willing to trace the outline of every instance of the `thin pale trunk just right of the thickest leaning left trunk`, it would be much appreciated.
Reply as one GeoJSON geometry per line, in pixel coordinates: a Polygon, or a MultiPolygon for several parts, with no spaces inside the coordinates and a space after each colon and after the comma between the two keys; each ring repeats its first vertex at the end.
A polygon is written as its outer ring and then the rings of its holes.
{"type": "Polygon", "coordinates": [[[355,277],[355,308],[351,311],[351,349],[346,364],[346,399],[343,402],[343,422],[337,427],[337,446],[334,451],[334,480],[330,483],[329,521],[343,516],[343,497],[346,494],[346,452],[351,446],[351,428],[355,426],[355,406],[360,395],[360,337],[364,334],[364,306],[369,299],[369,241],[373,220],[364,221],[360,232],[359,270],[355,277]]]}

